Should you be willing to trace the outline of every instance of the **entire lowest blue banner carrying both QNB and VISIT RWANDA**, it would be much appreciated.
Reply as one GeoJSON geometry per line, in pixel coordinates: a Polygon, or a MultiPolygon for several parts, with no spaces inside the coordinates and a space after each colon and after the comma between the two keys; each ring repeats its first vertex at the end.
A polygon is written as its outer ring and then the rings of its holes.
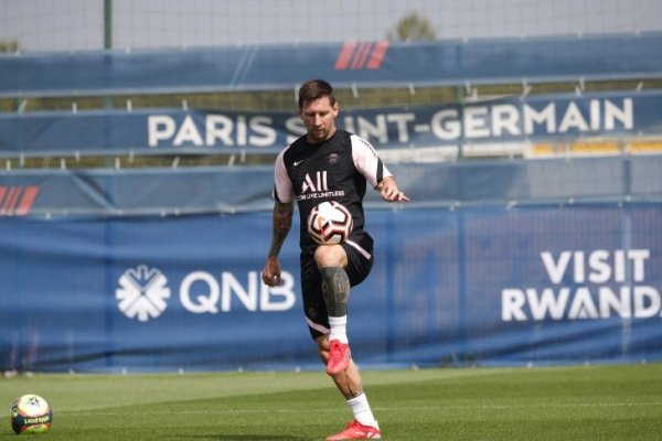
{"type": "MultiPolygon", "coordinates": [[[[362,367],[662,361],[660,204],[370,209],[362,367]]],[[[295,225],[295,228],[297,225],[295,225]]],[[[0,369],[320,368],[268,212],[0,217],[0,369]]]]}

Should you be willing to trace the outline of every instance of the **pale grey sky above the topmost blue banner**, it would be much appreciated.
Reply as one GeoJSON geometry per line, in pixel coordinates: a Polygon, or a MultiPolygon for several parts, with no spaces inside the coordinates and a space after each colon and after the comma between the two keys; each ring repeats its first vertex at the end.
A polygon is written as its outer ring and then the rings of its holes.
{"type": "MultiPolygon", "coordinates": [[[[113,47],[374,41],[412,12],[438,40],[662,31],[661,0],[113,0],[113,47]]],[[[0,0],[0,41],[104,49],[104,0],[0,0]]]]}

